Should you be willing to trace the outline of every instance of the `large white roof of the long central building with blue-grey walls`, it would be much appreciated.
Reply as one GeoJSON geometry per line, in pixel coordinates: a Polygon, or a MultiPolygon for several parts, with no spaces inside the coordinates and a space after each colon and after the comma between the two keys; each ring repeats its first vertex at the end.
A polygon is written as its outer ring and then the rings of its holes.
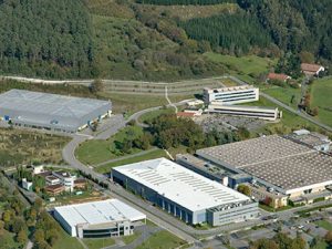
{"type": "Polygon", "coordinates": [[[154,189],[191,211],[249,199],[231,188],[165,158],[115,167],[113,170],[154,189]]]}

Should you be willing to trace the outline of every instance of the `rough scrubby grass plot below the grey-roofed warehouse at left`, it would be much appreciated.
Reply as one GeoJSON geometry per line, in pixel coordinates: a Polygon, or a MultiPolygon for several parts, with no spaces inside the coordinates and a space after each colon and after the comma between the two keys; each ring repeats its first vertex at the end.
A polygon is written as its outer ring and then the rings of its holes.
{"type": "Polygon", "coordinates": [[[62,148],[69,137],[42,134],[19,128],[0,128],[0,165],[31,162],[61,164],[62,148]]]}

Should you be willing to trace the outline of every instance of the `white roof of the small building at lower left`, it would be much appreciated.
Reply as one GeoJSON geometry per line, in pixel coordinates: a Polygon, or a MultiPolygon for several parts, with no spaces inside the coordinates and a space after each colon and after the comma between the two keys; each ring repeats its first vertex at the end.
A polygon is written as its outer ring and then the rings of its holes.
{"type": "Polygon", "coordinates": [[[70,226],[79,224],[98,225],[125,219],[136,221],[146,218],[144,214],[118,199],[75,204],[55,207],[54,209],[70,226]]]}

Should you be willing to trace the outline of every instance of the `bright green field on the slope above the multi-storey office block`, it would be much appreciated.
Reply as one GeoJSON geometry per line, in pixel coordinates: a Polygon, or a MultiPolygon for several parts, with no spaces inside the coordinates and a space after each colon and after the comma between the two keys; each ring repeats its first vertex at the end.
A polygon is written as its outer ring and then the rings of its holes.
{"type": "Polygon", "coordinates": [[[268,58],[259,58],[257,55],[247,55],[241,58],[222,55],[212,52],[205,53],[205,56],[214,62],[225,64],[229,73],[235,73],[243,81],[253,83],[255,77],[259,74],[268,72],[276,65],[277,61],[268,58]]]}

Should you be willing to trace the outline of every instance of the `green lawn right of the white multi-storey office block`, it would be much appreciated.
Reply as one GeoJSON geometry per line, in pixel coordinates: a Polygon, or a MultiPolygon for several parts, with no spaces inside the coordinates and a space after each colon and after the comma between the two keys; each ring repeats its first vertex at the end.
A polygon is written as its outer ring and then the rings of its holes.
{"type": "Polygon", "coordinates": [[[301,101],[301,89],[271,86],[263,92],[295,110],[301,101]]]}

